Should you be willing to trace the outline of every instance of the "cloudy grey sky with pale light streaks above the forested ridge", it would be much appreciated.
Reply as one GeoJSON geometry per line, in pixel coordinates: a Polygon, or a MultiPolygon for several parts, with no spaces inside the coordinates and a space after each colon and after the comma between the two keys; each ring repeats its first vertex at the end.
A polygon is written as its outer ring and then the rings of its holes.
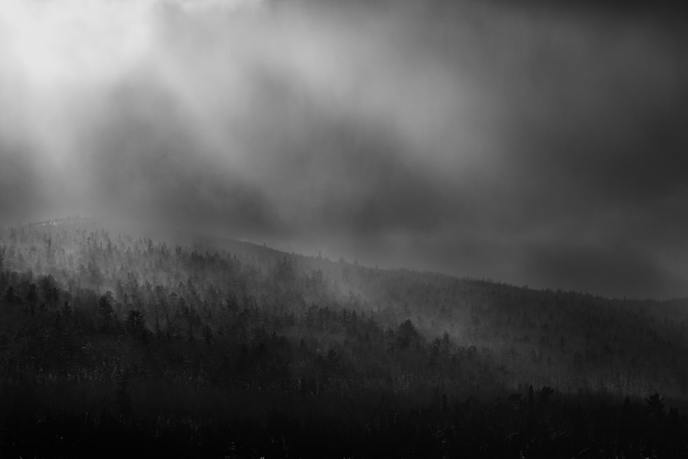
{"type": "Polygon", "coordinates": [[[688,295],[686,32],[614,3],[3,0],[0,222],[688,295]]]}

